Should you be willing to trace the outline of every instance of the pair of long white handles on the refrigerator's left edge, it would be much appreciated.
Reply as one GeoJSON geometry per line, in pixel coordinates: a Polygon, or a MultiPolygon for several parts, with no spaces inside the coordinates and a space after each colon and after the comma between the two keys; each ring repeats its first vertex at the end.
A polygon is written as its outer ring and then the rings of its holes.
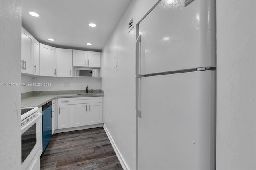
{"type": "Polygon", "coordinates": [[[140,59],[140,42],[141,42],[141,35],[138,36],[136,40],[136,114],[140,118],[140,109],[139,109],[139,103],[140,103],[140,77],[139,75],[139,59],[140,59]]]}

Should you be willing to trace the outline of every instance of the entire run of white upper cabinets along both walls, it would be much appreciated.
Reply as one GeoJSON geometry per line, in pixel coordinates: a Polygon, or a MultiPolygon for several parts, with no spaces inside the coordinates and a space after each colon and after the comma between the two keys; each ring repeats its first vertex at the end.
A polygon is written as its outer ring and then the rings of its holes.
{"type": "MultiPolygon", "coordinates": [[[[34,76],[73,77],[74,67],[101,67],[101,53],[61,49],[39,43],[23,27],[21,30],[21,73],[34,76]]],[[[87,67],[87,68],[86,68],[87,67]]],[[[94,69],[93,76],[98,77],[94,69]],[[95,76],[96,75],[96,76],[95,76]]]]}

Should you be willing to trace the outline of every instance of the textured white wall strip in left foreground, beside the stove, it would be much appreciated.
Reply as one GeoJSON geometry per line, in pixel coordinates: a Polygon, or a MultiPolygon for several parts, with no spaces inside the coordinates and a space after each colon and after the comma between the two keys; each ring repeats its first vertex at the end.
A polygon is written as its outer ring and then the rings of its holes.
{"type": "MultiPolygon", "coordinates": [[[[20,1],[0,1],[0,83],[20,83],[20,1]]],[[[0,87],[0,169],[21,168],[20,87],[0,87]]]]}

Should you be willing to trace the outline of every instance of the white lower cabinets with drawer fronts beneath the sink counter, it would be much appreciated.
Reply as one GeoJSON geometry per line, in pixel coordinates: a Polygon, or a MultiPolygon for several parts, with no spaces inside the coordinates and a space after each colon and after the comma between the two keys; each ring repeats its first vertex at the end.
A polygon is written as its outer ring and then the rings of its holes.
{"type": "MultiPolygon", "coordinates": [[[[103,123],[102,97],[60,98],[55,119],[58,129],[103,123]]],[[[54,126],[53,126],[54,127],[54,126]]]]}

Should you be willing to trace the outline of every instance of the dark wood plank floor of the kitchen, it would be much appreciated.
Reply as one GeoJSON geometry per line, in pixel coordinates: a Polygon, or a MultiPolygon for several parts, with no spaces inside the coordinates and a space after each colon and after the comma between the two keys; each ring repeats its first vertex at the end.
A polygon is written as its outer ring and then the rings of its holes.
{"type": "Polygon", "coordinates": [[[102,127],[53,134],[40,170],[122,170],[102,127]]]}

